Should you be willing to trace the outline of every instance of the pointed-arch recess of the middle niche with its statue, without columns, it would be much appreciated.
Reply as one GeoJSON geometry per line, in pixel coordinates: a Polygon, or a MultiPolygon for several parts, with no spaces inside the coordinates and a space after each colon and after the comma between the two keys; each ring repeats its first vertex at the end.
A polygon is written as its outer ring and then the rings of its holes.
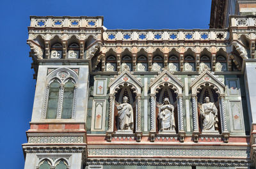
{"type": "Polygon", "coordinates": [[[157,133],[177,133],[177,94],[164,84],[156,94],[157,133]]]}

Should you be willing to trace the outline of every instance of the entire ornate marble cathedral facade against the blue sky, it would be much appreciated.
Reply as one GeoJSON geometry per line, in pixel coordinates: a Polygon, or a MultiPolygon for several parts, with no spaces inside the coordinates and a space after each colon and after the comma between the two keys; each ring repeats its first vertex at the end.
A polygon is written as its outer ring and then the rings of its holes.
{"type": "Polygon", "coordinates": [[[210,29],[191,30],[31,16],[24,168],[254,168],[255,12],[212,0],[210,29]]]}

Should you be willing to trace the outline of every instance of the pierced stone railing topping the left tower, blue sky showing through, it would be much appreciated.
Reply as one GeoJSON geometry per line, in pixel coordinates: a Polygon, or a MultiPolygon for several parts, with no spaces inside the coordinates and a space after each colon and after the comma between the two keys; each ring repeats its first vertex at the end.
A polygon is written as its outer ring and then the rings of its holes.
{"type": "Polygon", "coordinates": [[[103,17],[36,17],[31,16],[30,27],[101,27],[103,17]]]}

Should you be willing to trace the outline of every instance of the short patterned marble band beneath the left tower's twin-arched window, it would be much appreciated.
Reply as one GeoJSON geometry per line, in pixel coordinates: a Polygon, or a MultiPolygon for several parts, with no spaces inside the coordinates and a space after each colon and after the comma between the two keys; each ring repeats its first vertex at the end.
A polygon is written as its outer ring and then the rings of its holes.
{"type": "Polygon", "coordinates": [[[83,136],[29,136],[28,143],[83,143],[83,136]]]}

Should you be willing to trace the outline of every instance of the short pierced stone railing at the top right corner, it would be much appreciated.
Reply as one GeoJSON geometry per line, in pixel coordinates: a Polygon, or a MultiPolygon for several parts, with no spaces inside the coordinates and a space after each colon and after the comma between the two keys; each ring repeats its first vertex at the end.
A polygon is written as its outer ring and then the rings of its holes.
{"type": "Polygon", "coordinates": [[[256,16],[230,16],[230,21],[232,27],[256,26],[256,16]]]}

